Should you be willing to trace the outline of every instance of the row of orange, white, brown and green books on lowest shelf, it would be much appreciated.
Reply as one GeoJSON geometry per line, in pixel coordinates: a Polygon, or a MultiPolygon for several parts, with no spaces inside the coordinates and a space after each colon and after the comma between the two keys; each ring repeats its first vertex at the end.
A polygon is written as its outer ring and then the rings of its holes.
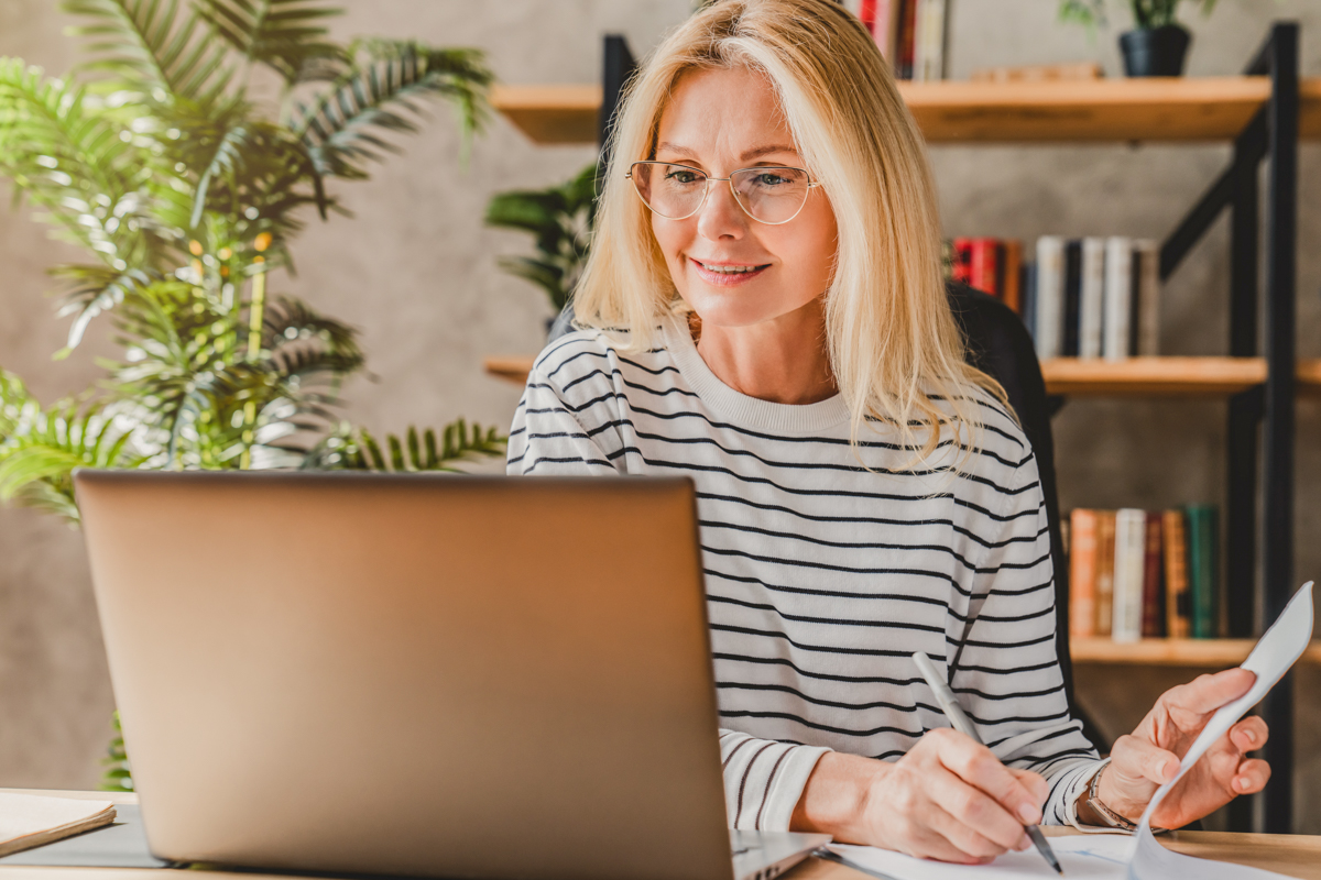
{"type": "Polygon", "coordinates": [[[1217,508],[1073,511],[1067,522],[1069,635],[1214,639],[1219,635],[1217,508]]]}

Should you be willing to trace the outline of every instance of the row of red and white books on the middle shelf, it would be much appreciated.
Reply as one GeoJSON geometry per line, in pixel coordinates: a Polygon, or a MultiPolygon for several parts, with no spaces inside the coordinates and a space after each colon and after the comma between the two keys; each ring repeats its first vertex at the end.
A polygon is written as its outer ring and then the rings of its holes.
{"type": "Polygon", "coordinates": [[[1034,263],[1015,239],[950,239],[945,272],[1017,311],[1042,360],[1160,350],[1160,251],[1151,239],[1044,235],[1034,263]]]}

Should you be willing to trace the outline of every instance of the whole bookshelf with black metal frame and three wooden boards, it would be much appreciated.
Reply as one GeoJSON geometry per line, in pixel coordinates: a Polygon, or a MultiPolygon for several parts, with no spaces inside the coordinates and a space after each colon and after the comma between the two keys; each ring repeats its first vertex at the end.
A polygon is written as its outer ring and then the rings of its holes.
{"type": "MultiPolygon", "coordinates": [[[[631,66],[622,38],[612,36],[604,86],[499,86],[491,100],[535,142],[600,144],[631,66]]],[[[1046,391],[1057,398],[1188,397],[1226,404],[1223,581],[1230,639],[1077,640],[1067,656],[1079,664],[1238,664],[1260,631],[1256,610],[1262,620],[1273,620],[1297,587],[1295,404],[1300,394],[1321,396],[1321,360],[1296,359],[1297,146],[1303,139],[1321,140],[1321,78],[1300,78],[1299,66],[1299,25],[1275,22],[1242,77],[898,83],[930,144],[1232,146],[1229,166],[1160,248],[1164,282],[1219,215],[1230,214],[1229,356],[1042,363],[1046,391]]],[[[532,360],[499,356],[487,358],[485,365],[491,375],[523,383],[532,360]]],[[[1063,581],[1067,573],[1058,577],[1063,581]]],[[[1066,637],[1061,635],[1061,646],[1066,637]]],[[[1321,662],[1321,643],[1306,658],[1321,662]]],[[[1293,801],[1292,676],[1271,691],[1262,715],[1272,731],[1263,757],[1275,772],[1259,796],[1259,830],[1287,833],[1293,801]]],[[[1230,822],[1248,830],[1252,803],[1235,801],[1230,822]]]]}

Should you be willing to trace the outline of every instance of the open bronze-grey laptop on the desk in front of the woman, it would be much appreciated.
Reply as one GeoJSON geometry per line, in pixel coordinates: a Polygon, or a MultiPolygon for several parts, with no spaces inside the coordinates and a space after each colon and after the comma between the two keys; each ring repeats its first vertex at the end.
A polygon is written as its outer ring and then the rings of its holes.
{"type": "Polygon", "coordinates": [[[74,472],[152,854],[768,880],[727,829],[686,478],[74,472]]]}

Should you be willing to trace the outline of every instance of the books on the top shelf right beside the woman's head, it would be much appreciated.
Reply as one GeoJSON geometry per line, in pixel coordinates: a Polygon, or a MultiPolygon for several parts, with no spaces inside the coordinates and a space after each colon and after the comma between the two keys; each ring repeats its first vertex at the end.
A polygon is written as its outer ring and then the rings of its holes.
{"type": "Polygon", "coordinates": [[[897,79],[945,79],[948,0],[843,0],[872,32],[897,79]]]}

